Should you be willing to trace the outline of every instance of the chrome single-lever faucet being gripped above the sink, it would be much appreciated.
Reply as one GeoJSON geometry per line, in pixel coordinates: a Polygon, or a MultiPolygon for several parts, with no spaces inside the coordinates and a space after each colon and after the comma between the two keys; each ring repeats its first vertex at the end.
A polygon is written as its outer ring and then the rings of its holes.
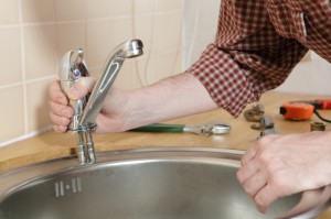
{"type": "MultiPolygon", "coordinates": [[[[96,129],[96,118],[125,59],[142,55],[142,47],[140,40],[131,40],[119,44],[108,56],[92,94],[82,99],[70,101],[74,109],[74,117],[68,130],[77,134],[79,164],[96,162],[92,138],[92,132],[96,129]]],[[[58,70],[63,91],[67,92],[81,77],[89,77],[83,50],[66,52],[58,70]]]]}

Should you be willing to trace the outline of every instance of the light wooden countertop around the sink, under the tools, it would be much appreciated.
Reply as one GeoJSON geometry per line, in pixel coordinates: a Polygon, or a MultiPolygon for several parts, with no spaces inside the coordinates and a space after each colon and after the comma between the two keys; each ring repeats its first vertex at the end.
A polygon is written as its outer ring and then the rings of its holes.
{"type": "MultiPolygon", "coordinates": [[[[288,95],[275,91],[265,94],[259,103],[265,108],[265,114],[271,116],[278,133],[301,133],[310,131],[310,122],[320,121],[316,116],[310,121],[287,121],[279,114],[279,107],[290,100],[313,100],[327,98],[308,95],[288,95]]],[[[329,97],[330,98],[330,97],[329,97]]],[[[250,109],[252,105],[246,109],[250,109]]],[[[325,118],[331,118],[331,110],[320,110],[325,118]]],[[[202,124],[217,120],[231,124],[231,133],[224,135],[202,136],[192,133],[147,133],[124,132],[94,134],[96,151],[124,150],[152,146],[212,146],[247,150],[259,131],[250,129],[254,122],[248,122],[242,114],[234,119],[226,111],[220,109],[206,113],[190,116],[167,123],[202,124]]],[[[331,124],[327,124],[331,130],[331,124]]],[[[13,143],[0,149],[0,172],[40,161],[63,157],[75,154],[76,138],[71,133],[58,134],[49,131],[28,140],[13,143]]],[[[330,210],[331,211],[331,210],[330,210]]],[[[331,218],[331,212],[324,217],[331,218]],[[329,217],[328,217],[329,216],[329,217]]],[[[323,217],[321,217],[322,219],[323,217]]]]}

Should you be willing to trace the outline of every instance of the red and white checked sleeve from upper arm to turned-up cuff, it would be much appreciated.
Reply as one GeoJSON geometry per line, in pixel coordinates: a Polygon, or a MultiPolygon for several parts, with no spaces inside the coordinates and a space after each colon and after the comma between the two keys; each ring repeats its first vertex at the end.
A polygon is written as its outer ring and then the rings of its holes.
{"type": "Polygon", "coordinates": [[[275,30],[281,23],[270,21],[263,2],[223,0],[214,43],[186,70],[234,117],[264,91],[282,84],[308,51],[275,30]]]}

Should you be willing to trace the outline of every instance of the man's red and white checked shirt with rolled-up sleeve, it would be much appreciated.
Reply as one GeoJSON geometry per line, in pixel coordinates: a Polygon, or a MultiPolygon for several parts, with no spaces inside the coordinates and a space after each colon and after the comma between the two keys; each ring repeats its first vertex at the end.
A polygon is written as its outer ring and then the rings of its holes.
{"type": "Polygon", "coordinates": [[[222,0],[215,41],[186,72],[237,117],[282,84],[309,48],[331,61],[327,0],[222,0]]]}

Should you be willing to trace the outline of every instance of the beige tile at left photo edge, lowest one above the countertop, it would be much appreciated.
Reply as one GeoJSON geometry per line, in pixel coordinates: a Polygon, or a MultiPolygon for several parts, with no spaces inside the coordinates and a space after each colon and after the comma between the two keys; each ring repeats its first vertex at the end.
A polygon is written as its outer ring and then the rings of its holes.
{"type": "Polygon", "coordinates": [[[0,142],[24,134],[24,107],[22,86],[0,89],[0,142]]]}

